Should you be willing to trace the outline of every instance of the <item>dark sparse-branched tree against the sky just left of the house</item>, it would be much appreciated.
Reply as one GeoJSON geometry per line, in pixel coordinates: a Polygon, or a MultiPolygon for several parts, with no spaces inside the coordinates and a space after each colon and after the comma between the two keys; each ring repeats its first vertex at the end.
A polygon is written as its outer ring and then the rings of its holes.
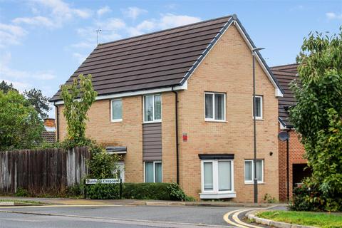
{"type": "Polygon", "coordinates": [[[24,95],[42,119],[48,118],[47,113],[51,110],[51,107],[48,105],[48,97],[43,95],[41,90],[36,90],[35,88],[28,91],[25,90],[24,95]]]}

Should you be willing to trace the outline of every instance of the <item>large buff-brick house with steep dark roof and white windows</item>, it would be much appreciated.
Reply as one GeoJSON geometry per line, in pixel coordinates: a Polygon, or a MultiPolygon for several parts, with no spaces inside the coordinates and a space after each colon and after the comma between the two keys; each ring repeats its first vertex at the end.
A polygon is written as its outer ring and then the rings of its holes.
{"type": "MultiPolygon", "coordinates": [[[[86,135],[123,155],[126,182],[178,182],[200,199],[279,195],[276,78],[256,55],[253,158],[252,48],[236,15],[99,44],[68,79],[93,75],[86,135]]],[[[61,91],[57,136],[66,137],[61,91]]]]}

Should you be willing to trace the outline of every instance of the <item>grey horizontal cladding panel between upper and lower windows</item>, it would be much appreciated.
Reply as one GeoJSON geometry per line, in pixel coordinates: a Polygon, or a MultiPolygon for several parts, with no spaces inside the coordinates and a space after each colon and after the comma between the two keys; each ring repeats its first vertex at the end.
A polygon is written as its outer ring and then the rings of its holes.
{"type": "Polygon", "coordinates": [[[142,124],[142,160],[162,160],[162,123],[142,124]]]}

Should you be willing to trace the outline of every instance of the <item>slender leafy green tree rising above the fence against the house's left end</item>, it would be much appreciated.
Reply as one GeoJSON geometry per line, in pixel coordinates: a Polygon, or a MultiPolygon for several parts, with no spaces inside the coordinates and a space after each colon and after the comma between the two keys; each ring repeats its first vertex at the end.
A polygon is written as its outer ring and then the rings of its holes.
{"type": "Polygon", "coordinates": [[[74,78],[73,84],[61,86],[68,139],[76,143],[86,140],[87,111],[97,95],[93,90],[90,74],[88,76],[80,74],[78,77],[79,81],[74,78]]]}

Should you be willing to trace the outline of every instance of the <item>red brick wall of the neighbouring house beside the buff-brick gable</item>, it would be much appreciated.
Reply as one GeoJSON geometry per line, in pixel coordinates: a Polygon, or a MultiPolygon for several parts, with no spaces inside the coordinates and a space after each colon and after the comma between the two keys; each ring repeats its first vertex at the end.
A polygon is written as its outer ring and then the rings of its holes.
{"type": "MultiPolygon", "coordinates": [[[[292,167],[294,164],[306,164],[304,159],[304,147],[299,140],[299,134],[295,130],[289,131],[289,193],[292,196],[292,167]]],[[[287,179],[286,179],[286,142],[279,140],[279,200],[286,201],[287,179]]]]}

